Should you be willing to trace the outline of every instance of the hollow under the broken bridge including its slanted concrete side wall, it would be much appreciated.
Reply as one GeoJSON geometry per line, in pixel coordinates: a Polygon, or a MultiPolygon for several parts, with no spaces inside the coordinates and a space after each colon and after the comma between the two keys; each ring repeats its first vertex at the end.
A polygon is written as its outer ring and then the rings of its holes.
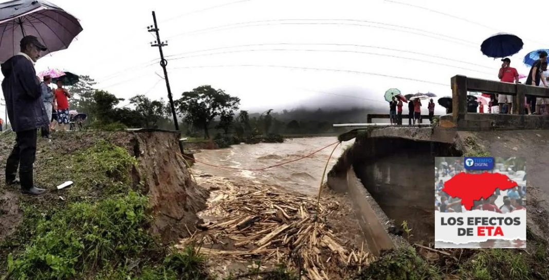
{"type": "Polygon", "coordinates": [[[357,215],[365,220],[363,232],[369,239],[368,245],[374,247],[374,253],[390,249],[389,245],[372,246],[370,243],[389,237],[398,246],[407,239],[401,228],[402,221],[412,229],[410,242],[433,242],[434,156],[462,155],[453,145],[452,138],[442,141],[445,142],[372,137],[369,132],[357,136],[355,144],[329,172],[328,183],[332,189],[353,194],[357,215]],[[364,189],[353,190],[353,181],[358,181],[359,187],[364,189]],[[386,237],[379,234],[380,228],[386,237]]]}

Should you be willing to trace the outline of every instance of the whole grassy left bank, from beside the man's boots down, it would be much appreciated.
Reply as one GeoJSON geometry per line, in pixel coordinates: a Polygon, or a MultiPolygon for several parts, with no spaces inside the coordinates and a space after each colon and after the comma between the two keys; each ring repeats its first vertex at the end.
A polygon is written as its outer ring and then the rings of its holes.
{"type": "Polygon", "coordinates": [[[40,199],[20,196],[23,221],[0,243],[0,279],[210,279],[196,251],[171,252],[149,232],[148,197],[132,186],[137,160],[107,141],[92,143],[68,154],[40,150],[36,181],[75,183],[40,199]]]}

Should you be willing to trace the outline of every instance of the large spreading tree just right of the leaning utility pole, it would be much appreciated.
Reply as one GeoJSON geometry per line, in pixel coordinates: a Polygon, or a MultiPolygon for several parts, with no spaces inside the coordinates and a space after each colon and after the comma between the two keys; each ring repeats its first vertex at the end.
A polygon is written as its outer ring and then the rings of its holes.
{"type": "Polygon", "coordinates": [[[191,92],[183,92],[182,97],[176,100],[176,104],[185,120],[195,127],[202,127],[204,139],[209,139],[211,121],[223,112],[227,114],[238,110],[240,99],[230,96],[222,89],[200,86],[191,92]]]}

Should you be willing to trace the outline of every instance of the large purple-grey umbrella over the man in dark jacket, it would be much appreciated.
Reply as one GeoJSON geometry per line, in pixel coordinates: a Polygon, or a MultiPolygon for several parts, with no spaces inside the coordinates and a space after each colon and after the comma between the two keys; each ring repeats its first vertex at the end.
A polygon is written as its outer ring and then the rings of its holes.
{"type": "Polygon", "coordinates": [[[14,0],[0,3],[0,61],[19,53],[19,42],[27,35],[38,38],[51,52],[66,49],[82,31],[79,20],[43,0],[14,0]]]}

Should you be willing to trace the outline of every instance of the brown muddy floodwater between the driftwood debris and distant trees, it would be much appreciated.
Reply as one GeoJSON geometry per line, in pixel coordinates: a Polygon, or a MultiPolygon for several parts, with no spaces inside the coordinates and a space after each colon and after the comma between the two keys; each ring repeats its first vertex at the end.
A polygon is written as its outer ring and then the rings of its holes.
{"type": "MultiPolygon", "coordinates": [[[[292,138],[286,139],[284,143],[239,144],[227,149],[201,150],[200,153],[194,154],[194,157],[211,165],[259,169],[301,158],[337,141],[337,137],[292,138]]],[[[335,149],[326,173],[332,169],[344,149],[352,143],[354,141],[343,142],[335,149]]],[[[322,172],[333,147],[302,160],[262,171],[221,169],[198,162],[193,166],[193,170],[200,170],[203,175],[229,178],[242,184],[275,185],[302,194],[314,195],[318,192],[322,172]]]]}

